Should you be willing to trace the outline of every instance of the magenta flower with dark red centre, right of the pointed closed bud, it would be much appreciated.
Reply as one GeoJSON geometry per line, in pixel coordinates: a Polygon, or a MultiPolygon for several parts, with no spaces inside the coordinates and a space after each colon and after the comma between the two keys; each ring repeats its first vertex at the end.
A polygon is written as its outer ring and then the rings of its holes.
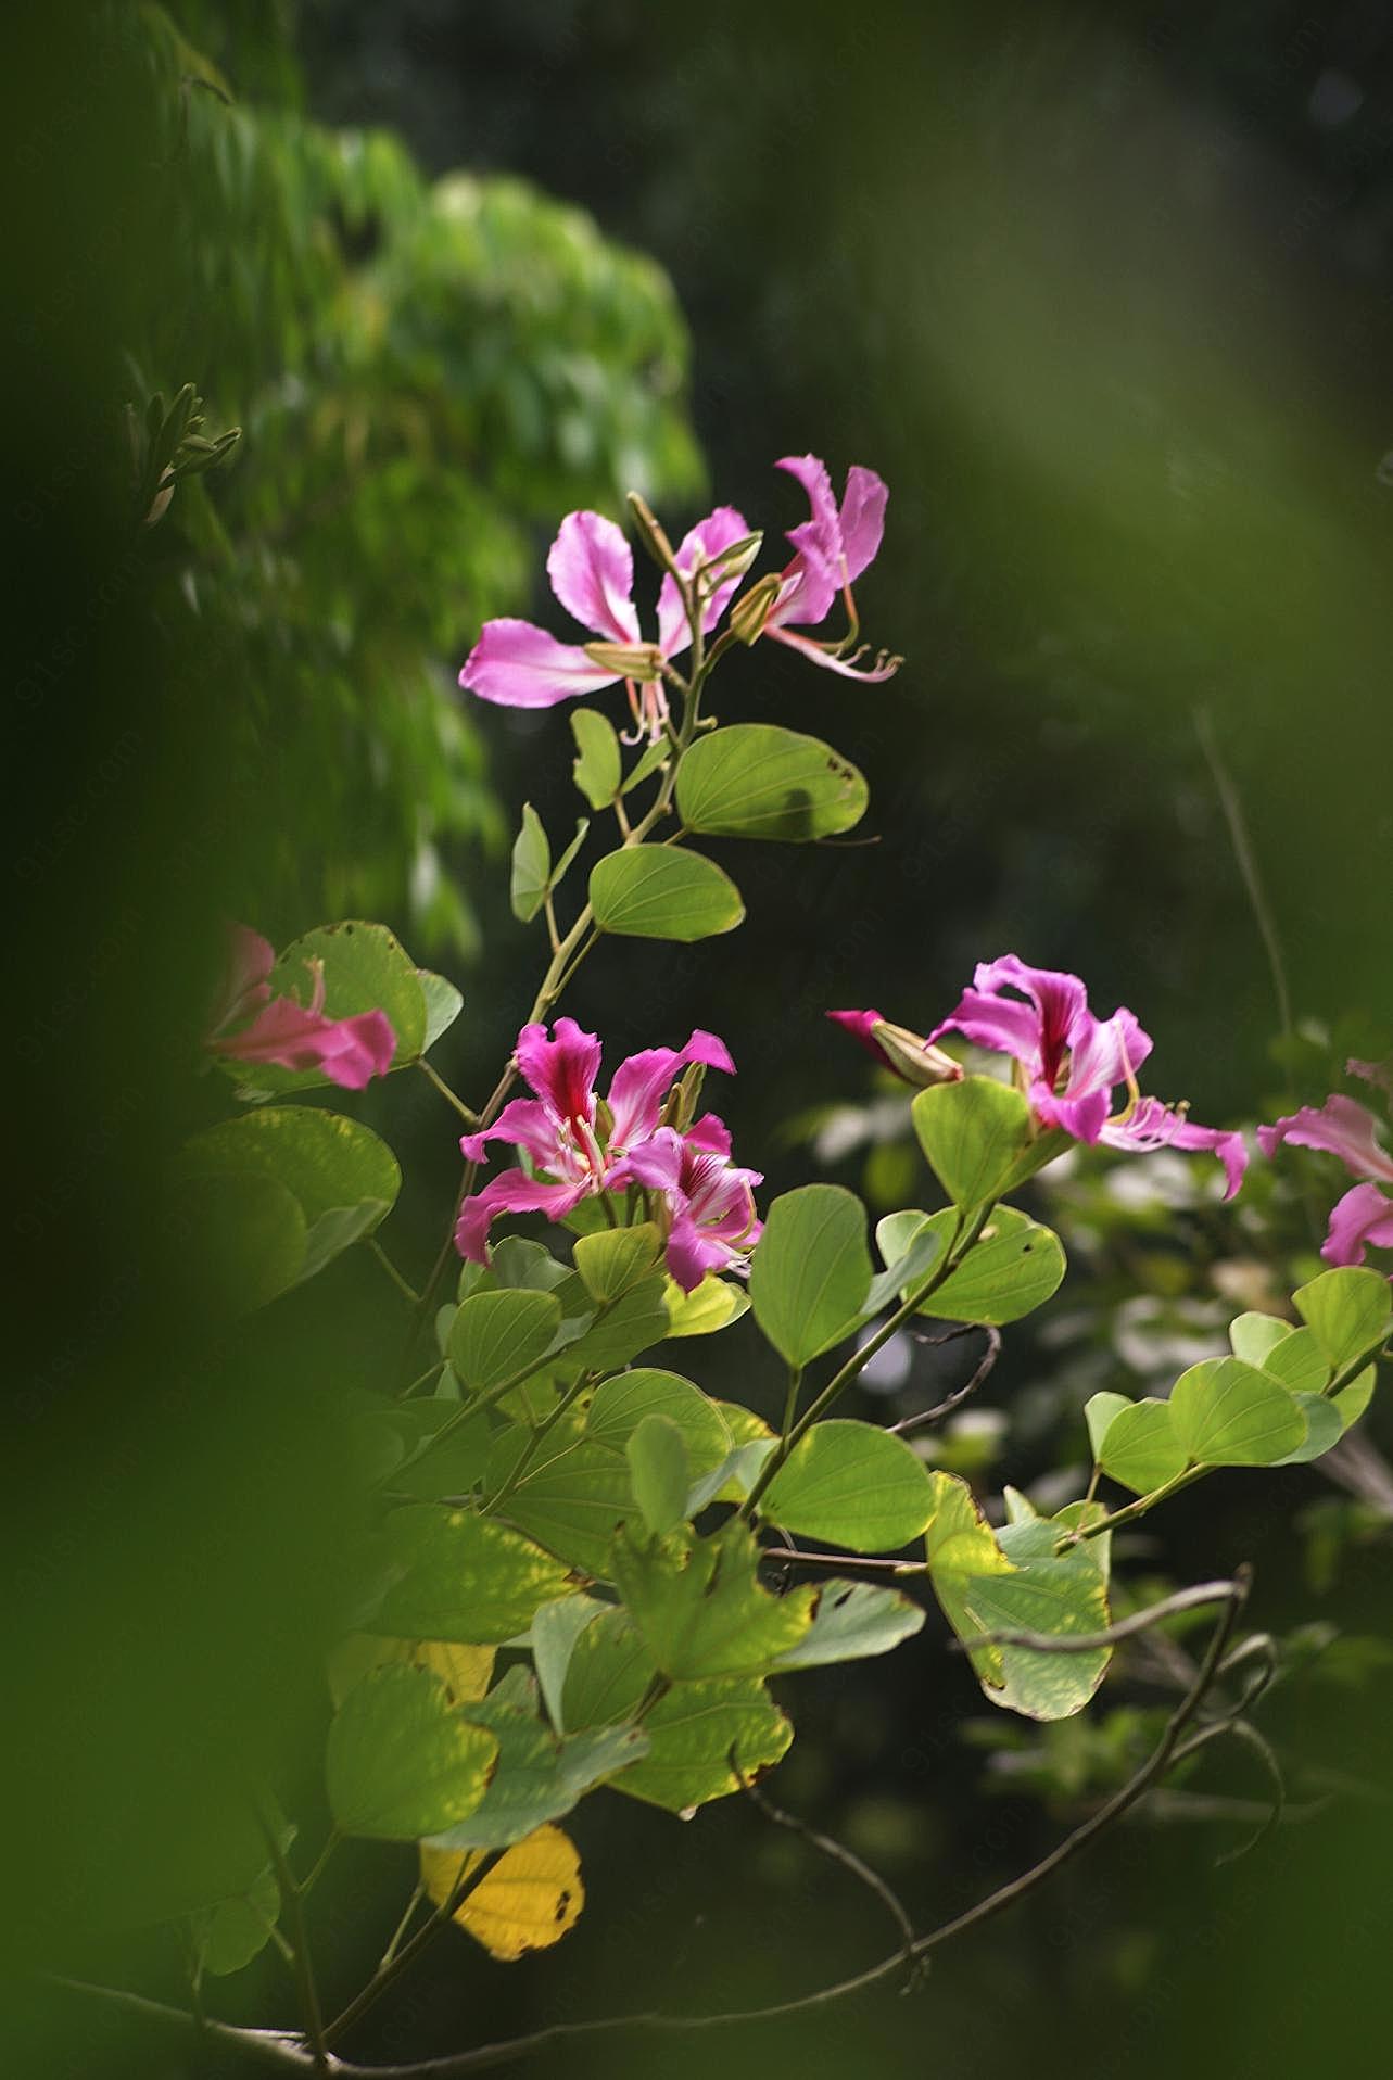
{"type": "Polygon", "coordinates": [[[1137,1090],[1137,1069],[1152,1042],[1131,1011],[1098,1019],[1077,976],[1027,967],[1015,953],[983,961],[958,1009],[931,1034],[961,1032],[973,1046],[1010,1055],[1017,1077],[1042,1127],[1058,1127],[1077,1142],[1146,1152],[1152,1148],[1206,1150],[1225,1167],[1233,1198],[1247,1169],[1241,1134],[1200,1127],[1183,1104],[1162,1104],[1137,1090]],[[1015,990],[1019,994],[1008,996],[1015,990]],[[1114,1096],[1127,1092],[1114,1111],[1114,1096]]]}

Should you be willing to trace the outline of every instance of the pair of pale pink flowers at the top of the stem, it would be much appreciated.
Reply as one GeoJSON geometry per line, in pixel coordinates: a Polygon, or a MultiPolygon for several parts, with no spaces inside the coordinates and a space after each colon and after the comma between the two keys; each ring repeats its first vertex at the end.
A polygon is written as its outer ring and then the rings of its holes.
{"type": "MultiPolygon", "coordinates": [[[[794,555],[782,570],[778,587],[769,580],[771,597],[755,639],[763,634],[786,643],[823,670],[846,678],[890,678],[898,659],[882,655],[873,666],[861,666],[863,651],[848,655],[848,641],[819,641],[807,632],[819,628],[836,601],[844,599],[855,641],[857,609],[850,587],[879,551],[886,528],[886,485],[873,470],[855,466],[846,472],[838,505],[825,464],[817,456],[784,456],[778,468],[798,478],[809,497],[811,518],[788,532],[794,555]]],[[[759,537],[751,535],[734,505],[717,505],[696,522],[676,551],[674,562],[686,580],[699,566],[711,572],[711,593],[701,616],[703,634],[715,632],[744,578],[748,555],[738,553],[742,543],[757,549],[759,537]]],[[[657,641],[645,641],[638,626],[630,545],[603,514],[576,512],[561,520],[547,555],[547,576],[557,601],[590,630],[593,641],[561,643],[534,622],[503,616],[484,622],[459,672],[459,684],[480,701],[497,701],[503,707],[553,707],[557,701],[599,693],[624,678],[638,730],[657,738],[667,718],[665,670],[692,641],[682,591],[672,572],[663,576],[657,595],[657,641]]]]}

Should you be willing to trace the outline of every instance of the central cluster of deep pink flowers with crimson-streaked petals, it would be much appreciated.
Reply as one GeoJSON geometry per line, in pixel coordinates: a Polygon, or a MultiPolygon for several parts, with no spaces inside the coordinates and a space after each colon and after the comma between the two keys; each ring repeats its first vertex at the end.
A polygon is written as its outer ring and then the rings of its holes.
{"type": "Polygon", "coordinates": [[[703,1065],[734,1075],[715,1034],[694,1032],[684,1048],[655,1046],[622,1061],[601,1100],[595,1092],[601,1042],[574,1019],[524,1025],[514,1055],[530,1098],[514,1098],[497,1121],[459,1140],[470,1163],[489,1142],[509,1142],[528,1169],[505,1169],[459,1208],[455,1248],[489,1263],[489,1229],[501,1213],[547,1213],[563,1221],[584,1198],[630,1188],[657,1219],[672,1277],[694,1292],[709,1271],[742,1269],[759,1240],[753,1188],[759,1171],[736,1169],[730,1134],[715,1113],[686,1132],[667,1100],[682,1069],[703,1065]]]}

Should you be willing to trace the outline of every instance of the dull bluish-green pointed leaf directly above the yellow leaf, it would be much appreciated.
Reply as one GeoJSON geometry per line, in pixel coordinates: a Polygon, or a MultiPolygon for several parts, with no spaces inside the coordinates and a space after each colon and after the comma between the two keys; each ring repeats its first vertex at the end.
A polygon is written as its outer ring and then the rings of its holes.
{"type": "Polygon", "coordinates": [[[455,1824],[430,1828],[432,1849],[501,1849],[547,1820],[559,1820],[595,1785],[649,1749],[640,1726],[605,1726],[570,1739],[536,1712],[536,1685],[511,1668],[468,1720],[497,1741],[497,1764],[482,1799],[455,1824]]]}

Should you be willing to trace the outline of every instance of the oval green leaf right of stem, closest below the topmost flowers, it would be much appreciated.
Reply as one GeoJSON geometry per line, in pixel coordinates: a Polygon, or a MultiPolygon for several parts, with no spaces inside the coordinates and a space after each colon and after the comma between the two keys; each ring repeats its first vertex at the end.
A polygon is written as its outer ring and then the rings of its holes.
{"type": "Polygon", "coordinates": [[[678,813],[713,838],[830,838],[859,824],[865,805],[865,780],[848,759],[765,722],[711,730],[678,765],[678,813]]]}

